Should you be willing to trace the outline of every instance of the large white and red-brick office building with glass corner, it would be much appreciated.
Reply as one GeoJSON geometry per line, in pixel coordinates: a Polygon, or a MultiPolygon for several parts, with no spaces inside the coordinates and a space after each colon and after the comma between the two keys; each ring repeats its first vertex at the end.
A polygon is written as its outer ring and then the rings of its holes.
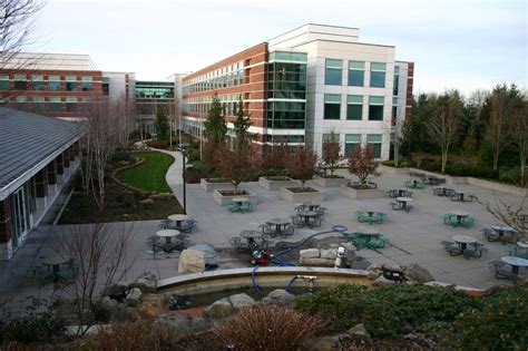
{"type": "Polygon", "coordinates": [[[412,101],[413,64],[393,46],[363,43],[359,29],[305,25],[183,78],[183,119],[201,136],[218,95],[231,136],[242,96],[255,144],[306,144],[321,155],[334,133],[344,155],[369,144],[388,159],[391,135],[412,101]]]}

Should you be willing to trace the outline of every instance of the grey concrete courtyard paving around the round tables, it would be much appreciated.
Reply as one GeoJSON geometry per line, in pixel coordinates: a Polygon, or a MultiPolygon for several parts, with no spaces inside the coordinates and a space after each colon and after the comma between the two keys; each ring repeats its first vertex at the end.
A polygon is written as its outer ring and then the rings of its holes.
{"type": "MultiPolygon", "coordinates": [[[[177,153],[176,162],[167,173],[167,181],[177,197],[182,201],[182,158],[177,153]]],[[[374,181],[380,188],[403,188],[408,176],[382,174],[374,181]]],[[[309,185],[317,187],[316,185],[309,185]]],[[[239,234],[244,230],[257,230],[258,224],[272,217],[289,217],[294,214],[294,205],[280,198],[278,192],[268,192],[262,188],[258,183],[243,184],[243,188],[251,189],[258,196],[258,204],[251,213],[231,213],[213,201],[212,193],[206,193],[197,184],[188,184],[187,189],[187,213],[198,221],[196,230],[190,234],[190,244],[211,243],[216,248],[227,248],[228,240],[233,235],[239,234]]],[[[509,204],[518,206],[522,197],[510,194],[496,193],[471,185],[451,186],[458,191],[472,193],[482,202],[493,202],[500,197],[509,204]]],[[[488,270],[488,262],[500,260],[507,254],[507,246],[501,243],[488,243],[480,230],[488,227],[497,221],[478,203],[457,203],[446,197],[433,196],[430,187],[424,189],[413,189],[414,208],[410,213],[392,211],[390,198],[354,201],[340,194],[339,188],[323,189],[326,199],[322,203],[329,208],[324,215],[325,222],[320,228],[296,228],[295,234],[290,238],[297,241],[316,232],[331,230],[334,225],[348,227],[348,232],[354,232],[360,226],[368,226],[358,223],[354,216],[356,209],[374,209],[389,215],[389,221],[384,224],[374,224],[380,232],[390,238],[392,245],[381,248],[378,252],[362,248],[359,255],[365,257],[371,263],[391,262],[398,264],[418,263],[428,269],[436,280],[446,283],[460,284],[487,289],[505,281],[497,281],[488,270]],[[477,220],[472,228],[453,228],[444,225],[440,216],[449,211],[461,209],[477,220]],[[453,235],[463,234],[476,237],[485,243],[489,248],[482,257],[471,257],[465,260],[462,256],[451,257],[440,244],[442,241],[451,241],[453,235]]],[[[124,224],[133,236],[127,260],[131,262],[131,270],[125,279],[133,279],[146,271],[154,272],[159,279],[166,279],[177,274],[178,254],[148,253],[145,240],[153,235],[158,228],[159,221],[130,222],[124,224]]],[[[38,263],[38,257],[46,245],[51,243],[58,233],[70,230],[67,226],[40,226],[33,231],[25,246],[21,247],[10,262],[0,264],[0,295],[23,296],[40,295],[49,296],[57,293],[52,284],[39,287],[35,280],[26,273],[27,269],[38,263]]],[[[324,236],[341,235],[325,234],[324,236]]],[[[324,237],[323,236],[323,237],[324,237]]],[[[343,236],[343,241],[345,237],[343,236]]],[[[221,254],[221,267],[237,267],[247,265],[246,262],[237,262],[234,257],[221,254]]]]}

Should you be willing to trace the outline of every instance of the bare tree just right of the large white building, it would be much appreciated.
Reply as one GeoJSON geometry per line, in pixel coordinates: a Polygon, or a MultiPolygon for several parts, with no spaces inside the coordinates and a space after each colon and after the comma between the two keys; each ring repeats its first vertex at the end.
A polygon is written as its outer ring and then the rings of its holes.
{"type": "Polygon", "coordinates": [[[442,172],[446,172],[449,147],[460,131],[462,101],[457,90],[447,91],[437,101],[437,108],[427,124],[427,130],[442,154],[442,172]]]}

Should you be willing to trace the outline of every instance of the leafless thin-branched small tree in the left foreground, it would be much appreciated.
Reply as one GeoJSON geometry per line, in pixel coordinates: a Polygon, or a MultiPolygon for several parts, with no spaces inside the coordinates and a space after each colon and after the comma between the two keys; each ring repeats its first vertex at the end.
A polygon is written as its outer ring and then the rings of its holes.
{"type": "Polygon", "coordinates": [[[133,228],[121,224],[75,225],[59,233],[51,246],[71,260],[75,274],[65,287],[72,299],[79,334],[94,324],[94,311],[104,293],[129,271],[134,257],[127,257],[133,228]],[[80,328],[82,326],[82,328],[80,328]]]}

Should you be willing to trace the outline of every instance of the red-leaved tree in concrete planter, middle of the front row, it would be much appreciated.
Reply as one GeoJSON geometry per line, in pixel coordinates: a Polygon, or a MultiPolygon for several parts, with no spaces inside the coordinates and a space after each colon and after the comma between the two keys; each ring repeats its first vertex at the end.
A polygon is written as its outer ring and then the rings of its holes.
{"type": "Polygon", "coordinates": [[[291,203],[324,201],[323,192],[305,186],[306,181],[312,179],[317,174],[316,163],[317,155],[314,152],[304,148],[304,146],[299,146],[295,154],[289,157],[286,170],[301,182],[301,186],[281,187],[281,198],[291,203]]]}

